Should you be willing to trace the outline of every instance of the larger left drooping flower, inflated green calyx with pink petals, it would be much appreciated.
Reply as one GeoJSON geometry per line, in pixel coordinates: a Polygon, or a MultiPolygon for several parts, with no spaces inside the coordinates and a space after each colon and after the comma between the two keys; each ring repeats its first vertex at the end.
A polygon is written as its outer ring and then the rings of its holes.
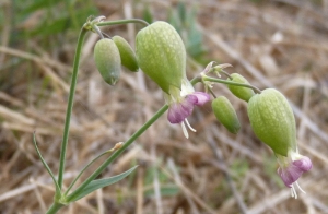
{"type": "Polygon", "coordinates": [[[191,131],[187,117],[195,106],[201,106],[210,96],[195,92],[186,78],[186,48],[175,28],[166,22],[155,22],[141,29],[136,38],[139,67],[164,92],[168,105],[167,119],[180,123],[188,138],[185,123],[191,131]]]}

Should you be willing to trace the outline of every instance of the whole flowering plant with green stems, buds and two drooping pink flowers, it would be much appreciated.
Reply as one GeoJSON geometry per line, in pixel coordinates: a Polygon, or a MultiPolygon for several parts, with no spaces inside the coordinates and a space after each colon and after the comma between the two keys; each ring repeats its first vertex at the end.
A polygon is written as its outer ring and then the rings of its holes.
{"type": "Polygon", "coordinates": [[[37,154],[51,176],[56,187],[54,203],[49,207],[48,214],[56,213],[67,204],[74,202],[99,188],[113,185],[132,173],[137,166],[110,178],[96,179],[108,165],[119,157],[119,155],[165,111],[168,111],[167,120],[171,123],[181,124],[183,133],[188,138],[189,134],[186,126],[194,132],[196,132],[196,130],[189,124],[187,118],[192,114],[195,106],[202,106],[210,102],[212,95],[212,109],[215,117],[229,131],[237,133],[239,130],[239,122],[235,110],[226,97],[215,96],[211,90],[212,84],[214,83],[227,85],[229,90],[236,97],[248,103],[248,117],[255,134],[272,148],[280,165],[278,169],[279,176],[285,186],[291,188],[292,195],[295,198],[297,197],[294,183],[300,187],[297,179],[303,173],[308,171],[312,168],[312,162],[308,157],[298,154],[295,136],[295,119],[292,109],[281,93],[272,88],[260,91],[250,85],[248,81],[239,74],[230,75],[226,73],[223,69],[230,67],[230,64],[214,66],[214,62],[210,62],[199,75],[189,81],[186,74],[186,49],[184,43],[179,34],[168,23],[155,22],[149,25],[141,20],[106,22],[104,19],[104,16],[96,19],[90,17],[80,32],[67,107],[58,178],[55,177],[51,169],[44,160],[34,138],[37,154]],[[99,26],[126,23],[141,23],[145,25],[136,37],[136,54],[122,37],[116,36],[112,38],[99,29],[99,26]],[[81,49],[87,32],[97,33],[101,37],[101,40],[97,41],[94,48],[94,58],[96,67],[105,82],[115,85],[119,81],[120,66],[125,66],[133,72],[138,71],[140,68],[162,88],[166,104],[133,135],[131,135],[129,140],[124,143],[117,143],[112,150],[105,151],[90,162],[70,183],[68,189],[63,190],[62,177],[65,171],[70,117],[73,106],[81,49]],[[209,76],[211,73],[216,73],[219,79],[209,76]],[[223,80],[221,74],[226,75],[227,80],[223,80]],[[198,82],[204,85],[203,92],[195,91],[192,85],[198,82]],[[72,187],[85,169],[99,157],[107,154],[110,154],[110,156],[78,188],[72,190],[72,187]]]}

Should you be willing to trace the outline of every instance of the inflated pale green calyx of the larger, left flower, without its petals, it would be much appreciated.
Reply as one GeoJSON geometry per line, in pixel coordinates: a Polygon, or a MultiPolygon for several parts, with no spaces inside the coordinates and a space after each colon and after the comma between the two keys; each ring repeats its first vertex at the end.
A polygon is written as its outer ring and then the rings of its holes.
{"type": "Polygon", "coordinates": [[[180,88],[186,78],[186,48],[176,29],[166,22],[154,22],[136,37],[139,67],[164,92],[180,88]]]}

